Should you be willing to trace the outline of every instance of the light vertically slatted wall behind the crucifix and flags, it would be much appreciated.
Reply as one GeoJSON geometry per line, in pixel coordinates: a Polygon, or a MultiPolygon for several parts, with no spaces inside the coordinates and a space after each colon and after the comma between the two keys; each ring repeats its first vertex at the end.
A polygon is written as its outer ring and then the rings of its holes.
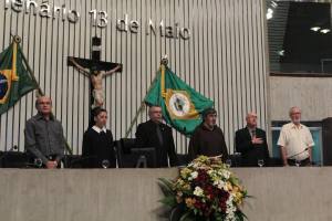
{"type": "MultiPolygon", "coordinates": [[[[25,2],[25,1],[23,1],[25,2]]],[[[41,0],[35,0],[40,6],[41,0]]],[[[81,152],[89,124],[89,80],[66,65],[68,56],[90,57],[91,38],[102,38],[102,60],[123,63],[122,73],[104,80],[108,127],[116,139],[125,135],[160,57],[198,92],[215,101],[218,124],[234,151],[235,130],[245,126],[249,110],[267,127],[266,32],[263,0],[51,0],[80,12],[80,21],[41,18],[4,9],[0,2],[0,50],[10,43],[10,32],[22,36],[22,48],[41,88],[52,97],[55,116],[62,122],[69,144],[81,152]],[[107,27],[92,25],[91,10],[107,12],[107,27]],[[117,19],[136,20],[138,33],[116,30],[117,19]],[[148,20],[158,25],[186,27],[189,40],[147,35],[148,20]]],[[[35,114],[35,93],[24,96],[0,118],[0,150],[18,145],[24,149],[23,129],[35,114]]],[[[138,117],[137,124],[146,120],[138,117]]],[[[136,124],[136,125],[137,125],[136,124]]],[[[134,137],[136,125],[131,133],[134,137]]],[[[186,152],[188,139],[174,131],[178,152],[186,152]]]]}

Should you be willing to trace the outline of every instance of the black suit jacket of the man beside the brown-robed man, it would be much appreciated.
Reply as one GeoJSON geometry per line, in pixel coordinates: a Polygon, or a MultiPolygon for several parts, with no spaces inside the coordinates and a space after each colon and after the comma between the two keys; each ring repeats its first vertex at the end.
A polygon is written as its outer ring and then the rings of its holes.
{"type": "Polygon", "coordinates": [[[136,146],[137,147],[154,147],[156,149],[156,167],[177,166],[177,155],[172,134],[172,128],[160,123],[159,128],[163,136],[163,145],[159,143],[157,135],[157,124],[153,120],[139,124],[136,130],[136,146]]]}

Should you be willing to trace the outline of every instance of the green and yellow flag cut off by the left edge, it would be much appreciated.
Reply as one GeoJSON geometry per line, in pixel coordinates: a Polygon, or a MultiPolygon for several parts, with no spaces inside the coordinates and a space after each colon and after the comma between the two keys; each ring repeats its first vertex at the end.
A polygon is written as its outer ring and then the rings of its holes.
{"type": "Polygon", "coordinates": [[[0,53],[0,115],[23,95],[38,88],[37,82],[23,65],[23,56],[15,41],[0,53]]]}

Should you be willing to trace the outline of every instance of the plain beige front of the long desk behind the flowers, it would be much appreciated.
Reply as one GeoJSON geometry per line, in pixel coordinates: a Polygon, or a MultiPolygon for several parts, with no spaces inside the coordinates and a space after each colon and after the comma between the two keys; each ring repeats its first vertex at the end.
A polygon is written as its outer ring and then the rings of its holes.
{"type": "MultiPolygon", "coordinates": [[[[236,168],[252,221],[332,220],[332,168],[236,168]]],[[[0,220],[167,220],[157,179],[177,169],[0,169],[0,220]]]]}

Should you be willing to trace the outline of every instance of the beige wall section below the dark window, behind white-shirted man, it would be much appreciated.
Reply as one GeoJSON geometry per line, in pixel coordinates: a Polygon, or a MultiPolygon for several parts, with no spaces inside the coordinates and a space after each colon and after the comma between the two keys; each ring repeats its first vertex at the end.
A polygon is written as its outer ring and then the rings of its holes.
{"type": "Polygon", "coordinates": [[[271,120],[288,120],[289,108],[299,106],[302,120],[332,116],[332,77],[270,76],[271,120]]]}

